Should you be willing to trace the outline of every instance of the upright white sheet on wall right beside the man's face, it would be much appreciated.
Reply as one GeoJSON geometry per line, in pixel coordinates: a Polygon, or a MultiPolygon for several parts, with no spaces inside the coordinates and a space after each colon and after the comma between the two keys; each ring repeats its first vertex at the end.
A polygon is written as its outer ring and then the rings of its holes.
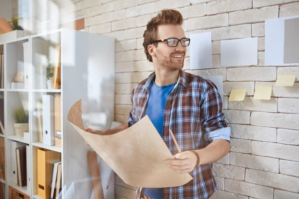
{"type": "Polygon", "coordinates": [[[190,35],[190,70],[212,68],[212,32],[190,35]]]}

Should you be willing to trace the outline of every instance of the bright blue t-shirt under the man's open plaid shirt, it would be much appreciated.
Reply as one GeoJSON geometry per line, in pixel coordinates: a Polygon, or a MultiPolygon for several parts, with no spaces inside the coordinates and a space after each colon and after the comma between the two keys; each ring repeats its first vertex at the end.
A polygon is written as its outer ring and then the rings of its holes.
{"type": "MultiPolygon", "coordinates": [[[[173,90],[176,83],[167,86],[157,86],[154,81],[149,88],[149,101],[147,104],[146,114],[150,121],[159,132],[163,135],[164,109],[166,100],[173,90]]],[[[144,188],[144,194],[153,199],[163,199],[163,188],[144,188]]]]}

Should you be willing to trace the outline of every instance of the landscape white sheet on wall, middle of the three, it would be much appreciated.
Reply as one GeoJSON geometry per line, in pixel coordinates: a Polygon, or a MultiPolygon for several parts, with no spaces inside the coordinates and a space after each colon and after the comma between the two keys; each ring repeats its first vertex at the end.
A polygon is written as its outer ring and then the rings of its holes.
{"type": "Polygon", "coordinates": [[[220,66],[258,65],[258,37],[221,41],[220,66]]]}

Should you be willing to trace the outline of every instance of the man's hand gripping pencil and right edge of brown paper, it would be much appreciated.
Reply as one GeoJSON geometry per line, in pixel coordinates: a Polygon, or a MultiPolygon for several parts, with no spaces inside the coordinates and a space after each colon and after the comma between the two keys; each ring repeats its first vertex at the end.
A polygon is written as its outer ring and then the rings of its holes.
{"type": "Polygon", "coordinates": [[[165,161],[169,167],[179,174],[193,171],[197,163],[197,157],[191,151],[177,153],[173,157],[175,158],[174,160],[168,159],[165,161]]]}

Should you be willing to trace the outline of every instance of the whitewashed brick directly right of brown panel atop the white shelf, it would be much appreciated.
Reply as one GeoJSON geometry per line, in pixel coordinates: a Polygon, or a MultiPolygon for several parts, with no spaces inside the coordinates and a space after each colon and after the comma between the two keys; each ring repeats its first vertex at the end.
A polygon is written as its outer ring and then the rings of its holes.
{"type": "Polygon", "coordinates": [[[122,10],[117,10],[117,11],[85,18],[85,26],[89,27],[92,25],[108,23],[111,21],[117,21],[125,18],[126,18],[126,10],[122,9],[122,10]]]}

